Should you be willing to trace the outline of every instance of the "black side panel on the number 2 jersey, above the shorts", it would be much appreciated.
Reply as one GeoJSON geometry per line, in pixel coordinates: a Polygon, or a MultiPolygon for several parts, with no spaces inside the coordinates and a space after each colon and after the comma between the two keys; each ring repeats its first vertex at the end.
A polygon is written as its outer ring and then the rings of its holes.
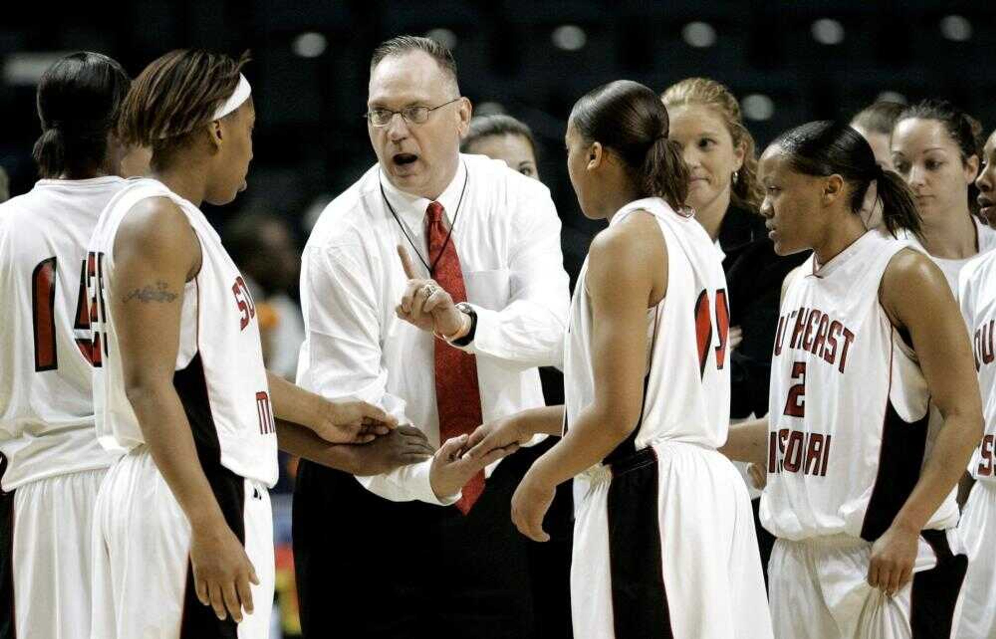
{"type": "Polygon", "coordinates": [[[930,411],[912,424],[892,408],[885,406],[881,427],[881,450],[878,454],[878,474],[875,476],[871,500],[865,512],[862,538],[874,541],[891,526],[895,515],[906,503],[920,478],[923,454],[927,444],[927,421],[930,411]]]}

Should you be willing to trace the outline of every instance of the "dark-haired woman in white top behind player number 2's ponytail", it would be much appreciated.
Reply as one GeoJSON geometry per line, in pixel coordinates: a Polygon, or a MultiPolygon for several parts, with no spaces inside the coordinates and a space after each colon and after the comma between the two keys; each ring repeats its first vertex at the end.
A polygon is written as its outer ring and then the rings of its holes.
{"type": "Polygon", "coordinates": [[[916,196],[923,248],[958,292],[958,272],[996,247],[996,231],[979,220],[975,177],[982,126],[943,100],[905,108],[892,128],[892,164],[916,196]]]}

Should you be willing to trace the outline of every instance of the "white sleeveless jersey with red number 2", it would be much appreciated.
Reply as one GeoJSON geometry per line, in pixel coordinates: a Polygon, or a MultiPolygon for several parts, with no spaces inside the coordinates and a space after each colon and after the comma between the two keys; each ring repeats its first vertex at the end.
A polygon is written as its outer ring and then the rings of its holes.
{"type": "MultiPolygon", "coordinates": [[[[870,231],[789,285],[775,334],[768,485],[761,521],[798,540],[874,540],[919,480],[939,426],[915,353],[878,302],[892,257],[910,248],[870,231]]],[[[954,491],[925,528],[958,522],[954,491]]]]}

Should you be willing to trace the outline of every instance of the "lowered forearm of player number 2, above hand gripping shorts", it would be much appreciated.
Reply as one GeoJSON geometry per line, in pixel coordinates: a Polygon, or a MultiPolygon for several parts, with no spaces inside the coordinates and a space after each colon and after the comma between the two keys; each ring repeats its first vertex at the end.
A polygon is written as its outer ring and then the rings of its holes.
{"type": "Polygon", "coordinates": [[[952,413],[945,418],[920,480],[895,516],[892,526],[921,531],[958,484],[981,438],[981,415],[952,413]]]}

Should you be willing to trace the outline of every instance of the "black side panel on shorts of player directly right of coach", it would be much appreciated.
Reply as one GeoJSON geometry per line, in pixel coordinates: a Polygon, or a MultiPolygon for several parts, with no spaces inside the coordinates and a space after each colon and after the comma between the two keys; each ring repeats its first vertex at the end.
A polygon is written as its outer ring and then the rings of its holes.
{"type": "Polygon", "coordinates": [[[657,458],[644,448],[613,466],[609,561],[616,639],[673,639],[664,590],[657,458]]]}

